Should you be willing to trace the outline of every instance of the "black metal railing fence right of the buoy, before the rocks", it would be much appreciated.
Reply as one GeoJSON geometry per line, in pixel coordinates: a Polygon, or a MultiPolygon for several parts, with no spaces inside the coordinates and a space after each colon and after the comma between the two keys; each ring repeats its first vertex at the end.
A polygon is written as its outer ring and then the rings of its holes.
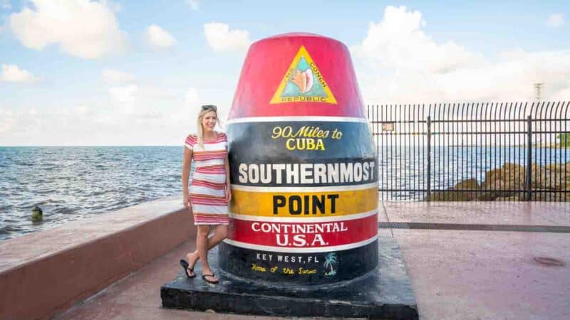
{"type": "Polygon", "coordinates": [[[570,103],[368,105],[384,201],[570,201],[570,103]]]}

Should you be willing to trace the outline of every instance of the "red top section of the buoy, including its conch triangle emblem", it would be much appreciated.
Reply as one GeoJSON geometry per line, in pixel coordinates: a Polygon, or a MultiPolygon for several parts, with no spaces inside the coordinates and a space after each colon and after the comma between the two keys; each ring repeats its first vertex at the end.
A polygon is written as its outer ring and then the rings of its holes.
{"type": "Polygon", "coordinates": [[[253,43],[229,120],[243,117],[364,117],[348,48],[312,33],[253,43]]]}

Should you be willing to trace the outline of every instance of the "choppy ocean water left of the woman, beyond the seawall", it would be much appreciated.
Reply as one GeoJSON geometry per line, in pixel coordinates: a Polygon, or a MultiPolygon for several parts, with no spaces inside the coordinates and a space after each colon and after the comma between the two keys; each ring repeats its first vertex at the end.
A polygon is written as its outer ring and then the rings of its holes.
{"type": "Polygon", "coordinates": [[[0,240],[180,195],[182,146],[0,147],[0,240]],[[43,209],[43,222],[31,209],[43,209]]]}

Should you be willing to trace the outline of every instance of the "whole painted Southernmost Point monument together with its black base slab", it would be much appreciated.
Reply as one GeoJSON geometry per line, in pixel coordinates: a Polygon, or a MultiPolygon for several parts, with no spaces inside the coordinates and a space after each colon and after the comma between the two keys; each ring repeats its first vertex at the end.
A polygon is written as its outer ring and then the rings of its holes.
{"type": "Polygon", "coordinates": [[[378,238],[378,156],[343,43],[253,43],[227,136],[229,234],[209,255],[222,281],[180,274],[162,286],[163,306],[418,319],[398,244],[378,238]]]}

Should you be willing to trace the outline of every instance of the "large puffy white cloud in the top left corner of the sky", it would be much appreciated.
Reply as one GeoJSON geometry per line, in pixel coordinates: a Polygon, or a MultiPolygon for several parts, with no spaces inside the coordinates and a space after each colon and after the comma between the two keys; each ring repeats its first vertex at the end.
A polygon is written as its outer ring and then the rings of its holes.
{"type": "Polygon", "coordinates": [[[54,43],[61,51],[79,58],[95,59],[118,53],[126,46],[115,10],[107,1],[31,0],[19,13],[9,16],[14,36],[27,48],[42,50],[54,43]]]}

